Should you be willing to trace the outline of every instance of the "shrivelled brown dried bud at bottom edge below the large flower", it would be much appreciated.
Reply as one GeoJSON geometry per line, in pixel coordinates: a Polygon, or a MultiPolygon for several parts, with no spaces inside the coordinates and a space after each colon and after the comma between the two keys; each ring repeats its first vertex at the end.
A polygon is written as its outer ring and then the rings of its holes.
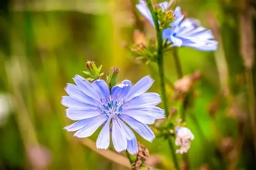
{"type": "Polygon", "coordinates": [[[146,147],[144,147],[142,144],[138,143],[138,149],[139,152],[137,154],[136,161],[132,164],[133,170],[138,170],[142,166],[142,164],[146,161],[147,157],[150,156],[148,150],[146,147]]]}

